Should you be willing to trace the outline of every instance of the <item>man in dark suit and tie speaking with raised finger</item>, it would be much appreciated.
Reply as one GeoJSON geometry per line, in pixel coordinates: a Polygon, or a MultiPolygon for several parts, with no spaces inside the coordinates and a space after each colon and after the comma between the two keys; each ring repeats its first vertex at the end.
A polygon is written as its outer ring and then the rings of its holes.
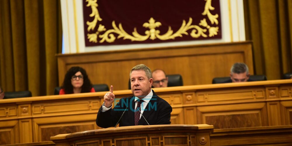
{"type": "Polygon", "coordinates": [[[114,127],[120,118],[119,126],[170,124],[172,107],[151,89],[153,79],[150,68],[143,64],[136,65],[131,69],[130,80],[134,95],[120,99],[112,109],[115,95],[111,86],[103,97],[104,103],[98,111],[96,124],[102,128],[114,127]]]}

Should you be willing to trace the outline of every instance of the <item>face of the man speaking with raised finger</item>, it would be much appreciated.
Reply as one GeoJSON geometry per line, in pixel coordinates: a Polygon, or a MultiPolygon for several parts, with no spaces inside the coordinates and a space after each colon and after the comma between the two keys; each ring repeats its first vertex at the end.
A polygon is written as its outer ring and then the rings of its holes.
{"type": "Polygon", "coordinates": [[[131,90],[136,97],[145,97],[151,91],[153,79],[148,80],[144,70],[133,70],[130,76],[131,90]]]}

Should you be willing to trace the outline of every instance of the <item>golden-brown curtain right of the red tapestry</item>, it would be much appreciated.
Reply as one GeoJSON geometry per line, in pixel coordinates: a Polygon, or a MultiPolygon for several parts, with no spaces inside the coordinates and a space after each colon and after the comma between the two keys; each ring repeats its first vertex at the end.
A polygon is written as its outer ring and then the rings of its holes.
{"type": "Polygon", "coordinates": [[[255,74],[281,79],[292,71],[292,1],[244,0],[246,40],[253,41],[255,74]]]}

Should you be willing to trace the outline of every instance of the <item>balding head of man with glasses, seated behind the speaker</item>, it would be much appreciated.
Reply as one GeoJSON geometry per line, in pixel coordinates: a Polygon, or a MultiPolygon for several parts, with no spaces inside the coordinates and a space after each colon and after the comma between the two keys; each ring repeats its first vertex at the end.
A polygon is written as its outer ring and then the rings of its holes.
{"type": "Polygon", "coordinates": [[[153,72],[152,77],[154,88],[167,87],[168,77],[165,76],[163,71],[157,70],[153,72]]]}

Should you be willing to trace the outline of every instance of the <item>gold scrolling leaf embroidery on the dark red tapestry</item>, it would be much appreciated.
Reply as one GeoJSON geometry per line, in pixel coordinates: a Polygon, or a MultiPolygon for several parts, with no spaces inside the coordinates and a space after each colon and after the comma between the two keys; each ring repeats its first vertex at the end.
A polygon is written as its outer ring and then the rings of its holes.
{"type": "MultiPolygon", "coordinates": [[[[211,0],[205,0],[205,9],[202,15],[207,15],[208,19],[211,21],[211,24],[218,25],[218,14],[211,14],[210,10],[214,10],[215,8],[211,6],[211,0]]],[[[89,15],[90,17],[94,17],[94,20],[92,22],[86,22],[88,25],[87,31],[94,30],[95,26],[97,25],[98,21],[102,21],[102,19],[99,16],[98,13],[98,4],[97,0],[86,0],[88,4],[86,6],[91,6],[92,13],[89,15]]],[[[175,39],[176,37],[183,37],[183,34],[188,35],[188,30],[192,29],[190,35],[193,38],[198,38],[200,36],[203,37],[212,37],[217,35],[219,27],[211,27],[206,22],[206,19],[200,21],[199,25],[191,25],[192,24],[192,18],[189,18],[189,21],[186,23],[185,20],[183,20],[183,23],[178,29],[177,32],[173,33],[173,30],[171,29],[171,26],[168,26],[168,31],[165,34],[160,34],[159,29],[157,29],[159,26],[161,26],[161,22],[155,22],[154,18],[150,18],[148,22],[145,22],[143,24],[143,27],[149,28],[149,30],[145,31],[145,35],[141,35],[137,32],[137,28],[134,27],[134,31],[131,34],[128,34],[122,27],[122,24],[119,23],[119,27],[117,27],[115,21],[112,22],[113,29],[106,29],[105,26],[99,25],[98,30],[95,33],[87,34],[87,39],[89,39],[89,42],[98,43],[98,37],[101,39],[99,43],[103,43],[104,41],[112,43],[116,39],[129,39],[131,41],[145,41],[147,39],[160,39],[160,40],[168,40],[168,39],[175,39]],[[148,23],[149,22],[149,23],[148,23]],[[201,26],[201,27],[200,27],[201,26]],[[207,32],[207,29],[202,28],[205,27],[208,29],[209,35],[207,36],[205,33],[207,32]],[[102,34],[102,32],[104,32],[102,34]],[[118,37],[116,38],[114,34],[118,34],[118,37]]]]}

